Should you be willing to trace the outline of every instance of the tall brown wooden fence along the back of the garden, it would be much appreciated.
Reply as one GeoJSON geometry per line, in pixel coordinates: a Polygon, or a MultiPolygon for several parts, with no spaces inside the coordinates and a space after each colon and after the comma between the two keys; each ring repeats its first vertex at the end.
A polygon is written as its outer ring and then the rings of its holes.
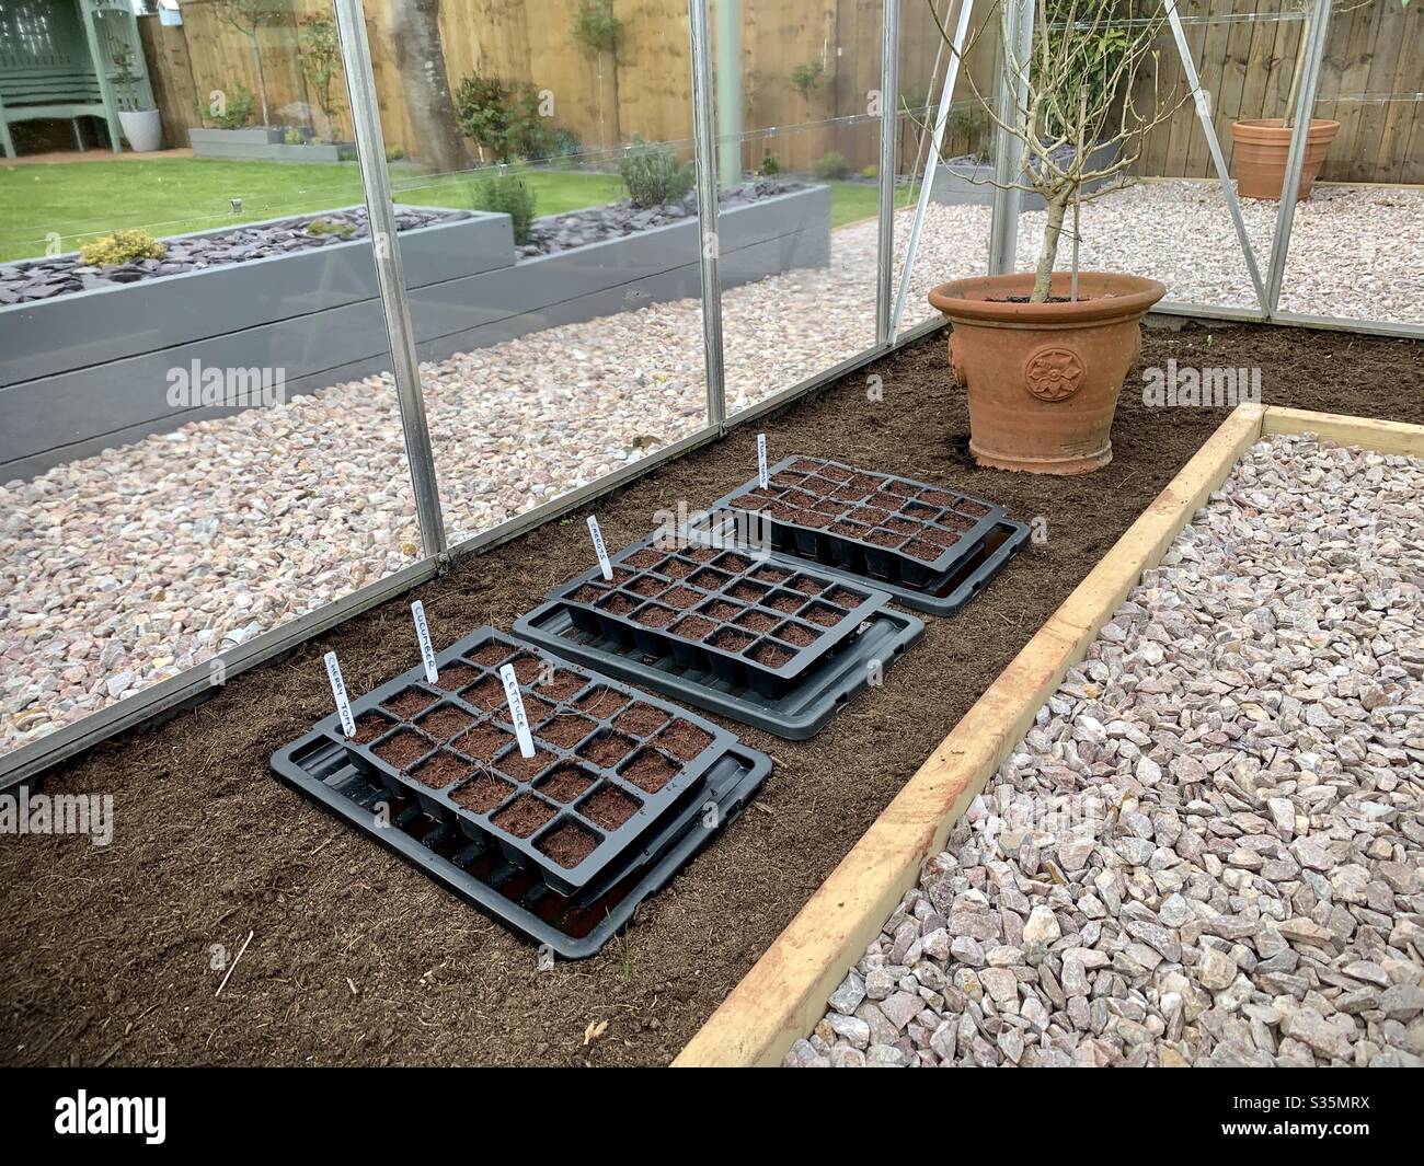
{"type": "MultiPolygon", "coordinates": [[[[1186,26],[1188,43],[1212,93],[1213,121],[1230,157],[1230,122],[1284,112],[1304,21],[1277,20],[1297,0],[1182,0],[1183,16],[1218,17],[1186,26]],[[1247,19],[1243,19],[1247,17],[1247,19]],[[1249,19],[1255,17],[1255,19],[1249,19]]],[[[476,70],[551,90],[558,125],[585,145],[614,145],[641,135],[648,141],[685,141],[692,132],[688,19],[682,0],[614,0],[622,20],[617,65],[609,54],[591,57],[570,24],[578,0],[444,0],[441,37],[451,85],[476,70]]],[[[938,0],[950,19],[953,4],[938,0]]],[[[159,28],[145,19],[144,46],[159,91],[169,140],[182,144],[197,124],[195,98],[235,80],[256,91],[249,41],[221,19],[221,0],[188,0],[184,24],[159,28]]],[[[300,124],[310,104],[296,57],[296,20],[330,14],[329,0],[293,0],[293,19],[261,33],[273,120],[300,124]]],[[[387,141],[420,155],[413,141],[407,94],[390,43],[390,0],[367,0],[369,34],[382,122],[387,141]]],[[[778,128],[773,140],[753,140],[743,151],[750,167],[766,149],[793,169],[807,169],[827,149],[853,168],[877,161],[873,124],[832,125],[863,114],[866,95],[879,88],[880,6],[856,0],[742,0],[743,121],[746,130],[778,128]],[[802,98],[790,84],[797,64],[819,60],[824,81],[802,98]]],[[[901,93],[928,94],[937,34],[920,4],[901,17],[901,93]]],[[[993,93],[997,34],[970,56],[968,68],[993,93]]],[[[1424,4],[1401,7],[1373,0],[1339,14],[1330,30],[1316,115],[1336,117],[1341,132],[1321,177],[1339,181],[1424,182],[1424,4]],[[1357,100],[1361,94],[1367,100],[1357,100]],[[1394,100],[1390,97],[1394,95],[1394,100]]],[[[1163,85],[1178,87],[1182,70],[1171,36],[1161,44],[1163,85]]],[[[943,71],[943,63],[941,63],[943,71]]],[[[933,95],[933,94],[928,94],[933,95]]],[[[961,81],[956,100],[967,100],[961,81]]],[[[345,94],[343,94],[345,97],[345,94]]],[[[345,101],[342,103],[345,104],[345,101]]],[[[914,157],[918,127],[901,130],[901,167],[914,157]]],[[[951,121],[948,152],[970,145],[963,120],[951,121]],[[958,138],[956,137],[958,135],[958,138]],[[963,140],[963,141],[961,141],[963,140]]],[[[1136,172],[1158,177],[1212,175],[1205,137],[1190,103],[1145,144],[1136,172]]]]}

